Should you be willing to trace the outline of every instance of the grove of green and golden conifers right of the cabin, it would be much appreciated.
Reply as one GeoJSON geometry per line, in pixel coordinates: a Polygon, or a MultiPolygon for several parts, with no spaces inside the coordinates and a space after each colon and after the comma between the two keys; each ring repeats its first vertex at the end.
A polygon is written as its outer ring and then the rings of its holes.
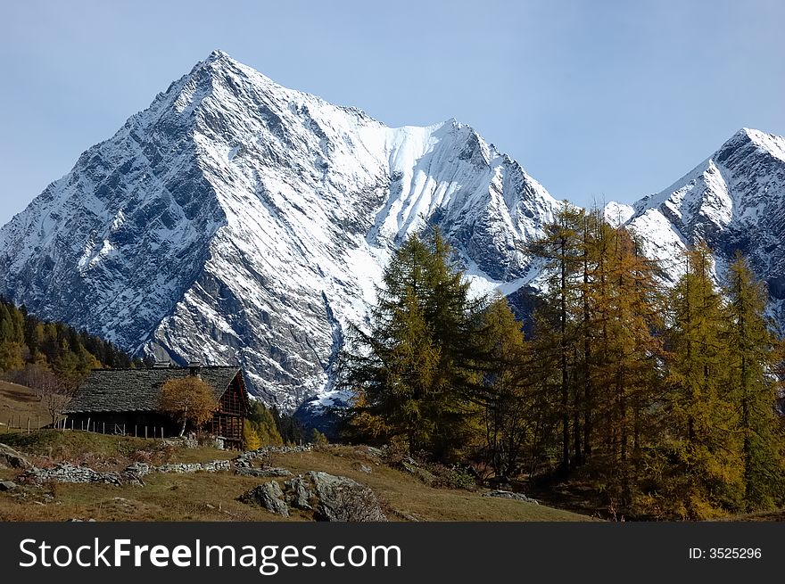
{"type": "Polygon", "coordinates": [[[507,300],[469,293],[437,230],[396,251],[340,360],[346,440],[588,485],[627,516],[783,503],[781,343],[746,259],[718,288],[699,243],[667,287],[632,234],[568,205],[526,251],[545,278],[531,338],[507,300]]]}

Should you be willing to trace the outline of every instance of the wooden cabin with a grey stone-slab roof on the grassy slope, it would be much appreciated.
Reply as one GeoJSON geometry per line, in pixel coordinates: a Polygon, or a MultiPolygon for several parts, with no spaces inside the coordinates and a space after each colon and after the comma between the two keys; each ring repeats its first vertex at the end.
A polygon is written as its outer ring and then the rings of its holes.
{"type": "Polygon", "coordinates": [[[181,424],[158,411],[161,387],[169,379],[195,375],[211,386],[219,407],[203,430],[227,448],[243,447],[243,420],[250,403],[238,366],[153,366],[146,369],[93,369],[64,414],[65,428],[108,434],[169,438],[181,424]]]}

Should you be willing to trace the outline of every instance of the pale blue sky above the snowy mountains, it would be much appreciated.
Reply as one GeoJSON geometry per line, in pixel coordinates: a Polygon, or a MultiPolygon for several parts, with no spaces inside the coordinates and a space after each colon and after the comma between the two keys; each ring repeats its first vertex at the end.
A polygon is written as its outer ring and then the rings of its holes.
{"type": "Polygon", "coordinates": [[[785,2],[35,2],[0,9],[0,224],[214,48],[390,126],[454,117],[558,199],[632,202],[785,135],[785,2]]]}

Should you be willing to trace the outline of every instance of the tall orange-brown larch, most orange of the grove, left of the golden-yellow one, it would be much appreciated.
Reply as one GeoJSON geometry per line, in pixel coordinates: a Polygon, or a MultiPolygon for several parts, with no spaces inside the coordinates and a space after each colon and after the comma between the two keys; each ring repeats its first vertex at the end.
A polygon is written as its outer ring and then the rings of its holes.
{"type": "Polygon", "coordinates": [[[641,453],[657,411],[658,358],[662,355],[657,331],[662,329],[656,264],[644,259],[624,229],[601,225],[591,278],[592,338],[599,347],[590,363],[597,388],[596,432],[601,439],[592,450],[594,467],[604,477],[608,494],[622,509],[632,495],[642,466],[641,453]],[[606,245],[610,243],[610,245],[606,245]],[[605,257],[603,257],[605,256],[605,257]]]}

